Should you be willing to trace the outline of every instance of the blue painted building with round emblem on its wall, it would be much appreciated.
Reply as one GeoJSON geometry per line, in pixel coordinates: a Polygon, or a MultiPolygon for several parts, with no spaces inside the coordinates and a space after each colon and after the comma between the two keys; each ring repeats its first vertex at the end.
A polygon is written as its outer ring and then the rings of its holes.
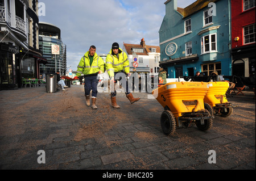
{"type": "Polygon", "coordinates": [[[160,66],[168,71],[168,78],[193,76],[197,71],[231,75],[230,0],[198,0],[184,9],[177,7],[177,0],[164,4],[160,66]]]}

